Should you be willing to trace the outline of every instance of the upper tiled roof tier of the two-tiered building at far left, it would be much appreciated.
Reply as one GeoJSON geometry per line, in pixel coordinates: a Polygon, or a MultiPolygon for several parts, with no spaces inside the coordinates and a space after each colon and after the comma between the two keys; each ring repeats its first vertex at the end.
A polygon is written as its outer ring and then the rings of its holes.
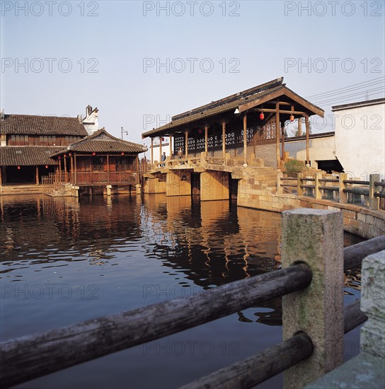
{"type": "Polygon", "coordinates": [[[4,115],[4,119],[0,120],[0,134],[88,135],[77,117],[37,115],[4,115]]]}

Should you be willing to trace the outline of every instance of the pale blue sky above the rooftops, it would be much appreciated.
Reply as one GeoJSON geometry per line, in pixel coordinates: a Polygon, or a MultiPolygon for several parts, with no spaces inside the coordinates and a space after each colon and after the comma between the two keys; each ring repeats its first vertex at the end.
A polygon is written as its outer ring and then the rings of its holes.
{"type": "MultiPolygon", "coordinates": [[[[76,116],[90,104],[100,127],[140,141],[280,76],[304,98],[376,80],[367,97],[381,98],[384,13],[384,1],[1,1],[0,106],[76,116]]],[[[314,103],[329,115],[366,99],[338,97],[314,103]]]]}

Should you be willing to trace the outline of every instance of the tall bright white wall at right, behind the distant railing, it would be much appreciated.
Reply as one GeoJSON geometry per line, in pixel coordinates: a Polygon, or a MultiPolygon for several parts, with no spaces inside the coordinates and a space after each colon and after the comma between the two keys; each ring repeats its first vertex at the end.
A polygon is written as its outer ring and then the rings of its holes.
{"type": "Polygon", "coordinates": [[[334,110],[335,156],[345,173],[369,180],[385,178],[385,103],[334,110]]]}

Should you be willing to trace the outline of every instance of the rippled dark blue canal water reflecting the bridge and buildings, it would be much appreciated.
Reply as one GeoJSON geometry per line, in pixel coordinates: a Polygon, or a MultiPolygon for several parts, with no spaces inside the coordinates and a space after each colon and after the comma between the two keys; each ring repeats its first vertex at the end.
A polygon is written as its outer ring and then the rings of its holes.
{"type": "MultiPolygon", "coordinates": [[[[0,197],[1,340],[280,268],[280,214],[191,197],[0,197]]],[[[360,238],[346,235],[345,244],[360,238]]],[[[345,298],[359,297],[360,275],[345,298]]],[[[280,299],[19,388],[177,388],[282,340],[280,299]]],[[[357,354],[357,334],[345,342],[357,354]]],[[[258,388],[280,388],[282,376],[258,388]]]]}

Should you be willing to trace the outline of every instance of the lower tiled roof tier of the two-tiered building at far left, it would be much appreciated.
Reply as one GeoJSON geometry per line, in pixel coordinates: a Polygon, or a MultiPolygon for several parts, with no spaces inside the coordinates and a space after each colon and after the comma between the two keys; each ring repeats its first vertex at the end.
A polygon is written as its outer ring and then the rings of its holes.
{"type": "Polygon", "coordinates": [[[50,156],[62,147],[55,146],[2,146],[0,166],[56,165],[50,156]]]}

